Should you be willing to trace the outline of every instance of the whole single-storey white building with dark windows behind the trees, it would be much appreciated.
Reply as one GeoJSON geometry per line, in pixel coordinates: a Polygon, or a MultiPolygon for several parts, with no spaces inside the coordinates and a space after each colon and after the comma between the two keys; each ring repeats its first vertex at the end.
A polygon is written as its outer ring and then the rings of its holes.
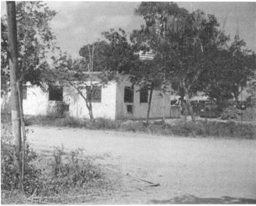
{"type": "MultiPolygon", "coordinates": [[[[139,91],[138,87],[131,86],[129,81],[123,80],[98,87],[92,95],[94,118],[146,118],[149,91],[139,91]]],[[[83,93],[86,96],[86,90],[83,93]]],[[[22,88],[22,96],[24,115],[89,118],[85,100],[73,87],[55,87],[43,91],[40,87],[27,85],[22,88]]],[[[163,117],[163,107],[166,118],[169,118],[170,95],[166,94],[163,98],[161,90],[153,90],[149,118],[163,117]]]]}

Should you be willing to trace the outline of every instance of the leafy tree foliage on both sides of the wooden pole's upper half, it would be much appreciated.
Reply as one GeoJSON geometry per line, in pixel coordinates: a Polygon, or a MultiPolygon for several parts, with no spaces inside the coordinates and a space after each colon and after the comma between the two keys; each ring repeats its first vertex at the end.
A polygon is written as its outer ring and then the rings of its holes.
{"type": "MultiPolygon", "coordinates": [[[[39,1],[21,1],[16,4],[19,79],[22,84],[41,85],[42,71],[49,67],[47,56],[56,47],[50,21],[56,12],[39,1]]],[[[8,37],[5,18],[1,18],[1,91],[10,82],[8,68],[8,37]]]]}

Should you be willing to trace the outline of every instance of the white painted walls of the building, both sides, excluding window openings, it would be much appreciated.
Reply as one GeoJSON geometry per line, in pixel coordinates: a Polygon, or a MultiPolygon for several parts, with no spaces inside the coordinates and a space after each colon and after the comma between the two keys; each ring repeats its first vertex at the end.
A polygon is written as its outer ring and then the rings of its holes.
{"type": "MultiPolygon", "coordinates": [[[[119,83],[110,82],[106,87],[102,88],[101,102],[93,102],[92,110],[95,118],[107,119],[140,119],[146,118],[147,103],[140,103],[140,92],[138,87],[134,87],[133,103],[124,102],[124,87],[129,86],[129,81],[121,81],[119,83]],[[133,105],[133,113],[127,113],[126,105],[133,105]]],[[[149,118],[163,117],[163,96],[161,91],[153,91],[151,109],[149,118]]],[[[84,91],[86,95],[86,91],[84,91]]],[[[78,94],[75,88],[63,88],[63,102],[69,104],[68,115],[73,118],[89,118],[89,111],[86,102],[78,94]]],[[[1,104],[2,102],[1,99],[1,104]]],[[[27,87],[27,99],[23,100],[24,115],[40,115],[40,116],[59,116],[54,108],[61,102],[49,101],[49,92],[42,91],[36,86],[27,87]]],[[[170,95],[166,95],[165,115],[170,117],[170,95]]],[[[2,105],[1,105],[2,106],[2,105]]]]}

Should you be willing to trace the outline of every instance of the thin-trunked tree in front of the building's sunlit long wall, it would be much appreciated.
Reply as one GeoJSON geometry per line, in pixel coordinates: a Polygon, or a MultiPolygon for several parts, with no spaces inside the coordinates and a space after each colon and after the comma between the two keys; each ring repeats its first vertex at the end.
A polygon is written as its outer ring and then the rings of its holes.
{"type": "Polygon", "coordinates": [[[116,79],[116,72],[110,70],[109,45],[97,41],[84,45],[79,51],[82,58],[73,60],[67,53],[53,57],[53,68],[45,76],[50,84],[73,87],[86,102],[90,119],[93,120],[92,96],[99,87],[105,87],[116,79]]]}

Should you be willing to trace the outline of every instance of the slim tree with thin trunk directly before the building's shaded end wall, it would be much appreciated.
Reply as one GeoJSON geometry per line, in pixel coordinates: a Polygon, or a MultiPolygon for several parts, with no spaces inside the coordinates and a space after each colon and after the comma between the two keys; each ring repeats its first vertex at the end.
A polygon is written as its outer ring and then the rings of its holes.
{"type": "MultiPolygon", "coordinates": [[[[146,114],[146,122],[148,123],[152,93],[160,85],[160,76],[163,75],[155,66],[155,62],[140,60],[138,52],[142,46],[134,44],[134,39],[139,35],[133,34],[131,36],[130,40],[133,44],[127,41],[127,35],[121,29],[120,33],[110,30],[110,32],[104,32],[103,35],[109,41],[110,56],[108,56],[108,59],[110,59],[110,70],[128,75],[132,85],[138,85],[140,87],[138,91],[150,91],[146,114]]],[[[143,35],[140,37],[143,38],[143,35]]]]}

